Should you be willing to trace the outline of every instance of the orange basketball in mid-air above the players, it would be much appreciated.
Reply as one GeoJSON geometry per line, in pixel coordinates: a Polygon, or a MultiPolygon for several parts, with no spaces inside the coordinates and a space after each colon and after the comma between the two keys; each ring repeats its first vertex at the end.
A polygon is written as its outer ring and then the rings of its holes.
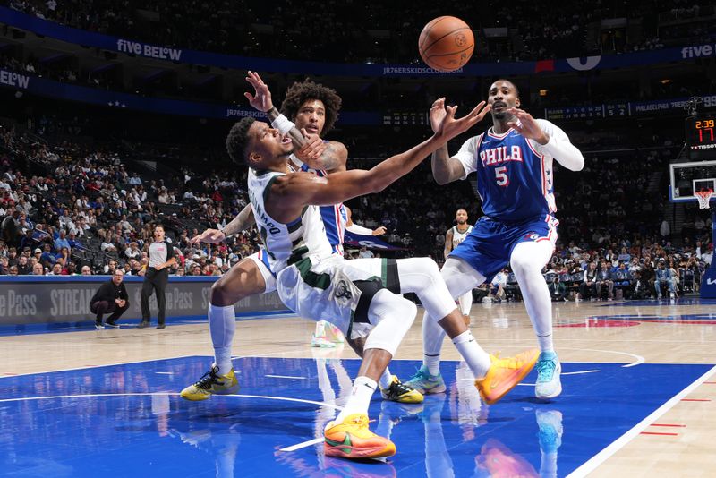
{"type": "Polygon", "coordinates": [[[454,72],[473,55],[475,38],[465,21],[443,16],[428,22],[420,33],[422,61],[439,72],[454,72]]]}

